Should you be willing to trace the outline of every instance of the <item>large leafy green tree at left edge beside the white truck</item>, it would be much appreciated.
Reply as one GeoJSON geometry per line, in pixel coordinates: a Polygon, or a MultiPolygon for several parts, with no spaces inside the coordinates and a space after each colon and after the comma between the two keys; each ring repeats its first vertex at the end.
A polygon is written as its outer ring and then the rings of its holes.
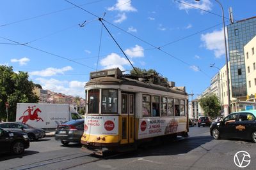
{"type": "Polygon", "coordinates": [[[17,103],[37,103],[39,98],[33,93],[33,88],[28,73],[15,73],[12,67],[0,66],[0,119],[6,119],[6,101],[10,104],[9,121],[15,121],[17,103]]]}

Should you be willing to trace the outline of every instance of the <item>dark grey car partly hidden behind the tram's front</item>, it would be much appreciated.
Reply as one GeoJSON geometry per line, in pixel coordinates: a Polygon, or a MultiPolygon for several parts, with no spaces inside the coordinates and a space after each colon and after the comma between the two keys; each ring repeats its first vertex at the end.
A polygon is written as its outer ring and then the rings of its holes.
{"type": "Polygon", "coordinates": [[[71,120],[58,125],[55,132],[55,139],[61,141],[63,145],[70,142],[80,143],[84,132],[84,119],[71,120]]]}

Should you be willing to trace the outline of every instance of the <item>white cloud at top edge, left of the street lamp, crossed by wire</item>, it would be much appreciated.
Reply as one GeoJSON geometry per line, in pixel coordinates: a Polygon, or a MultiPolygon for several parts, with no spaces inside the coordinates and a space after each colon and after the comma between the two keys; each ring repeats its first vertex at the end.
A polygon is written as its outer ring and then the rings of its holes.
{"type": "MultiPolygon", "coordinates": [[[[199,1],[199,2],[195,2],[195,0],[192,1],[181,1],[182,3],[179,3],[179,10],[186,10],[188,12],[188,10],[191,9],[195,9],[198,10],[196,8],[200,8],[202,10],[206,10],[206,11],[211,11],[212,10],[212,3],[210,0],[204,0],[204,1],[199,1]],[[186,4],[184,4],[186,3],[186,4]],[[189,4],[189,5],[187,5],[189,4]],[[195,6],[196,8],[193,8],[192,6],[195,6]]],[[[204,13],[204,11],[201,11],[201,13],[204,13]]]]}

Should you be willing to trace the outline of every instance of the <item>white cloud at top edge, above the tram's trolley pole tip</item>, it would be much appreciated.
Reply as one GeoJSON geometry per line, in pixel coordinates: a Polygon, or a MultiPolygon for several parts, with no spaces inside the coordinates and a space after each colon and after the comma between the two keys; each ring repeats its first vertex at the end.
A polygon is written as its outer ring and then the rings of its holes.
{"type": "Polygon", "coordinates": [[[137,11],[131,4],[132,1],[128,0],[117,0],[116,4],[112,7],[109,7],[109,11],[137,11]]]}

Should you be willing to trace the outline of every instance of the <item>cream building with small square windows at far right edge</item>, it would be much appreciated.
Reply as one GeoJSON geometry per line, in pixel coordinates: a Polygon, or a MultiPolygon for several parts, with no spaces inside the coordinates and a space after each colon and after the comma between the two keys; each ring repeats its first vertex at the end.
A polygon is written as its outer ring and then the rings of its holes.
{"type": "Polygon", "coordinates": [[[246,101],[256,102],[256,36],[244,45],[244,61],[246,68],[246,101]]]}

